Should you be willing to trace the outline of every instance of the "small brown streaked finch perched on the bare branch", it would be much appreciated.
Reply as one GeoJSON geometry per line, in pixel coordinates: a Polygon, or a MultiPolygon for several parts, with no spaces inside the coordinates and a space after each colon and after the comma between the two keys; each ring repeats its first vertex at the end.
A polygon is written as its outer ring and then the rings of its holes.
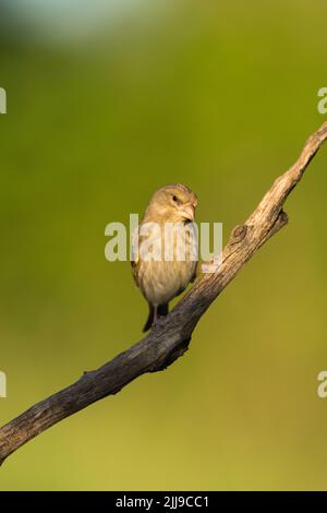
{"type": "Polygon", "coordinates": [[[181,183],[162,187],[152,196],[137,227],[132,271],[149,306],[144,332],[158,317],[168,314],[169,301],[195,278],[197,238],[193,220],[196,205],[197,198],[187,187],[181,183]]]}

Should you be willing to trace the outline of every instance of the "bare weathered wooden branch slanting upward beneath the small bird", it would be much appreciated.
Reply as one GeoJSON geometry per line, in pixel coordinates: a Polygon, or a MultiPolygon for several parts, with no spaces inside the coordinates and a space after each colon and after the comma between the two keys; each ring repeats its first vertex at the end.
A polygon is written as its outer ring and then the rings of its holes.
{"type": "Polygon", "coordinates": [[[146,372],[166,369],[189,347],[193,330],[210,303],[247,260],[288,222],[282,206],[327,139],[327,122],[307,140],[295,164],[272,183],[243,225],[237,226],[214,274],[203,275],[167,318],[128,350],[66,389],[32,406],[0,429],[0,465],[28,440],[146,372]]]}

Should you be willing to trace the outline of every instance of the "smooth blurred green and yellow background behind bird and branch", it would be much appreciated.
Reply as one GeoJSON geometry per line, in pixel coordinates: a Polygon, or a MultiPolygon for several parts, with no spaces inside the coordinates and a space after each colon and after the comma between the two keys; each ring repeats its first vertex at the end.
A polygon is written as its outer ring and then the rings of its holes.
{"type": "MultiPolygon", "coordinates": [[[[146,303],[105,226],[171,181],[225,238],[326,116],[327,4],[0,4],[1,423],[140,339],[146,303]]],[[[327,147],[289,226],[190,351],[51,428],[2,490],[327,489],[327,147]]]]}

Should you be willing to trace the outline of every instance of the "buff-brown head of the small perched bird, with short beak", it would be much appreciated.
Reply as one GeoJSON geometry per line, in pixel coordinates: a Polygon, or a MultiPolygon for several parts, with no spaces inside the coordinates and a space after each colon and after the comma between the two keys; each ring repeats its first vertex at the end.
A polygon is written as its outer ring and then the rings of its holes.
{"type": "Polygon", "coordinates": [[[192,223],[196,205],[194,192],[182,183],[172,183],[155,192],[146,210],[146,217],[156,223],[192,223]]]}

